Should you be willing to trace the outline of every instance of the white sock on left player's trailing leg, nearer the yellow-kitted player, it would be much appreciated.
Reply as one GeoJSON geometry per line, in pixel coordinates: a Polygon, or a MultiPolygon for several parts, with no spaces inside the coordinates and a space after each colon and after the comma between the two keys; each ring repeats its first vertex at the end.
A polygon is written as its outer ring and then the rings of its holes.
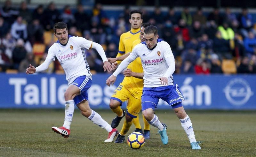
{"type": "Polygon", "coordinates": [[[101,128],[106,129],[108,132],[112,131],[111,125],[108,124],[101,116],[92,110],[92,114],[88,117],[94,124],[99,125],[101,128]]]}

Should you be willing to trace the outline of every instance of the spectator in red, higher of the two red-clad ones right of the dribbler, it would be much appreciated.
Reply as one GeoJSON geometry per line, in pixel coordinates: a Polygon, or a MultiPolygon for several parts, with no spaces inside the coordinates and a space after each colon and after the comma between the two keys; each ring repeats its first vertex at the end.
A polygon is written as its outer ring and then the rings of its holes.
{"type": "Polygon", "coordinates": [[[189,41],[190,40],[189,30],[186,26],[186,21],[184,19],[180,19],[179,25],[174,26],[174,31],[175,31],[176,34],[182,34],[182,37],[183,37],[184,41],[189,41]]]}

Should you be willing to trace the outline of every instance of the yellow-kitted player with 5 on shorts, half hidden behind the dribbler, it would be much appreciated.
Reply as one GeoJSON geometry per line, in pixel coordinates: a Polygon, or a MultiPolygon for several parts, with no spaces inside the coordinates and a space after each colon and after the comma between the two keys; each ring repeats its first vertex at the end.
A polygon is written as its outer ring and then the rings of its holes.
{"type": "MultiPolygon", "coordinates": [[[[140,32],[140,39],[137,39],[133,41],[132,48],[143,41],[143,35],[144,35],[144,29],[147,26],[150,26],[152,24],[146,23],[143,24],[141,27],[140,32]]],[[[121,42],[121,40],[120,40],[121,42]]],[[[117,58],[108,58],[112,60],[112,63],[116,60],[123,60],[121,58],[126,58],[129,55],[130,52],[126,53],[123,56],[117,57],[117,58]]],[[[129,69],[124,71],[124,76],[126,76],[122,83],[118,86],[116,91],[113,93],[110,101],[110,108],[116,113],[117,110],[119,110],[119,114],[117,113],[116,118],[112,121],[111,126],[115,128],[118,126],[120,120],[123,116],[125,116],[125,121],[122,130],[120,131],[118,137],[116,138],[115,143],[123,143],[125,139],[125,134],[129,130],[130,126],[132,125],[132,120],[136,120],[136,116],[138,116],[141,105],[138,103],[141,103],[141,94],[142,94],[142,88],[143,88],[143,69],[140,62],[140,58],[137,58],[134,62],[131,63],[129,69]],[[131,77],[132,76],[132,77],[131,77]],[[125,115],[125,112],[121,110],[120,105],[123,101],[128,100],[127,104],[127,113],[125,115]],[[122,114],[123,113],[123,114],[122,114]],[[121,115],[122,114],[122,115],[121,115]]],[[[149,124],[144,120],[144,136],[145,138],[150,137],[150,130],[149,130],[149,124]]],[[[136,126],[135,126],[136,127],[136,126]]],[[[140,128],[136,128],[136,131],[138,131],[140,128]]],[[[140,129],[142,132],[142,130],[140,129]]]]}

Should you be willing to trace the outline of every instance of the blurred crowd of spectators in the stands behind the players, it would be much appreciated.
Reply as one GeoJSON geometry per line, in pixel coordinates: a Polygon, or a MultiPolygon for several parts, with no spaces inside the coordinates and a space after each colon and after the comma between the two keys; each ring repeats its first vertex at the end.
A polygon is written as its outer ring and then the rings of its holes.
{"type": "MultiPolygon", "coordinates": [[[[202,8],[191,13],[188,8],[177,13],[170,8],[167,14],[155,7],[154,12],[143,11],[143,22],[158,27],[159,38],[167,41],[175,56],[179,74],[256,73],[256,25],[248,9],[233,13],[229,8],[220,13],[215,8],[207,16],[202,8]]],[[[129,7],[118,19],[108,18],[101,4],[91,11],[82,5],[76,10],[65,6],[57,10],[54,3],[38,5],[29,10],[26,2],[13,9],[7,0],[0,8],[0,71],[25,72],[29,64],[44,62],[49,47],[56,42],[53,25],[63,21],[69,34],[100,43],[107,57],[115,57],[119,38],[130,30],[129,7]]],[[[94,49],[86,57],[94,72],[103,72],[102,60],[94,49]]],[[[56,60],[46,73],[63,72],[56,60]]]]}

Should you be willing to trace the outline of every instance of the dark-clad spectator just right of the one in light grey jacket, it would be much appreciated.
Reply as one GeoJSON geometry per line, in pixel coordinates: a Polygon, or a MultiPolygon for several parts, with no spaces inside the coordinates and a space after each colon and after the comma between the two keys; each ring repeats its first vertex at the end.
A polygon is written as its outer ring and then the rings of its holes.
{"type": "Polygon", "coordinates": [[[39,19],[34,19],[32,23],[28,25],[28,37],[30,43],[33,45],[34,43],[43,43],[44,42],[44,28],[40,24],[39,19]]]}

